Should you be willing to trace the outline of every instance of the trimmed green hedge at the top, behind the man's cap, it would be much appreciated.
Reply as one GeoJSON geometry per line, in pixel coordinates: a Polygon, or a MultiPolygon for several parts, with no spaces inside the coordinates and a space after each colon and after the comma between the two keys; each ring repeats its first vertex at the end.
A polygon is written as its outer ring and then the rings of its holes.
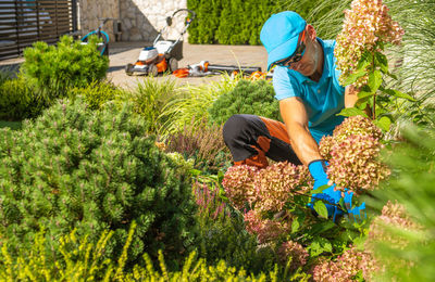
{"type": "Polygon", "coordinates": [[[283,1],[188,0],[198,18],[189,27],[190,43],[260,44],[260,30],[283,1]]]}

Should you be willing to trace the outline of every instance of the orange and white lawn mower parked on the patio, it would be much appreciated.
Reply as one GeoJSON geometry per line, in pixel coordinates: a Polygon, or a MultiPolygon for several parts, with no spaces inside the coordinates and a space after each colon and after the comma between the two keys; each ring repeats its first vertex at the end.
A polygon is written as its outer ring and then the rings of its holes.
{"type": "Polygon", "coordinates": [[[156,37],[151,47],[145,47],[139,54],[139,59],[134,64],[125,66],[125,73],[130,76],[134,73],[157,76],[164,72],[174,72],[178,68],[178,61],[183,59],[183,35],[187,31],[190,23],[195,20],[196,13],[188,9],[179,9],[172,16],[166,17],[166,26],[163,27],[156,37]],[[160,40],[162,34],[172,25],[174,16],[181,12],[191,15],[186,17],[185,25],[178,39],[160,40]]]}

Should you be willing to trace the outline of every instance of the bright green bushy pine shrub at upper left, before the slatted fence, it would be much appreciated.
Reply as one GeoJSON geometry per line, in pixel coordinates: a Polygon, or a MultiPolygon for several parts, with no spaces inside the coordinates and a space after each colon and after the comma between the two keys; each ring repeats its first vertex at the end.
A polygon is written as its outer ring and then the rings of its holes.
{"type": "Polygon", "coordinates": [[[36,42],[24,50],[22,72],[26,80],[40,90],[40,100],[51,104],[57,98],[66,97],[71,87],[86,87],[105,77],[109,59],[97,50],[97,37],[88,44],[63,36],[58,46],[36,42]]]}

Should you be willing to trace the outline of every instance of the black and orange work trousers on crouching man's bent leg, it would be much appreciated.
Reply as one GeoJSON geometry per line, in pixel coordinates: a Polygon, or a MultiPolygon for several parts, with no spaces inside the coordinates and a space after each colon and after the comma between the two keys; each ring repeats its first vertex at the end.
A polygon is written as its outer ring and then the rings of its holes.
{"type": "Polygon", "coordinates": [[[302,163],[296,156],[283,123],[254,115],[233,115],[223,128],[225,144],[235,165],[266,167],[268,158],[275,162],[302,163]]]}

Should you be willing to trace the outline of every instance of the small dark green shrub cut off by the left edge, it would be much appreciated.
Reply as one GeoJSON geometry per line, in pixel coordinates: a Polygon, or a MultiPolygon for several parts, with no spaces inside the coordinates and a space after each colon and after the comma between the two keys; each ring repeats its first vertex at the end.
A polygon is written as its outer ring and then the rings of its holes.
{"type": "Polygon", "coordinates": [[[0,85],[0,119],[22,120],[38,115],[41,110],[36,91],[22,75],[0,85]]]}

